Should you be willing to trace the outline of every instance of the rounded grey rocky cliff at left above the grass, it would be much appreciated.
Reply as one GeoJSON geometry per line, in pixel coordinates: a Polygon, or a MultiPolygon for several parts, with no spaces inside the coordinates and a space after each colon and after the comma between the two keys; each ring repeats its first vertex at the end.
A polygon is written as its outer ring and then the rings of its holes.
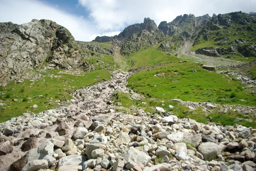
{"type": "Polygon", "coordinates": [[[0,83],[17,79],[28,69],[70,69],[81,66],[79,46],[71,33],[51,20],[21,25],[0,23],[0,83]],[[45,63],[47,62],[47,63],[45,63]]]}

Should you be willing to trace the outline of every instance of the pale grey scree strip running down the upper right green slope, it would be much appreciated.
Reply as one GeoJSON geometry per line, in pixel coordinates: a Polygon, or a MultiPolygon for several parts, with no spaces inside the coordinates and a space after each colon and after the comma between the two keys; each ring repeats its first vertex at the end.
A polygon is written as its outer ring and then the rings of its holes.
{"type": "Polygon", "coordinates": [[[190,51],[192,42],[185,42],[184,46],[177,50],[178,58],[184,60],[192,60],[195,63],[203,63],[207,65],[213,65],[216,67],[235,67],[244,64],[241,61],[233,61],[226,58],[211,57],[206,55],[195,54],[195,52],[190,51]]]}

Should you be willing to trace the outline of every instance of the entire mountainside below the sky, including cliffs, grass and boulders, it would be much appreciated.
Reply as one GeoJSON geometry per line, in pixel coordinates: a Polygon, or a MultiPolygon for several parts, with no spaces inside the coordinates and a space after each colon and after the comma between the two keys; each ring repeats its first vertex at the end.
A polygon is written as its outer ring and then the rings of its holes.
{"type": "Polygon", "coordinates": [[[0,23],[0,171],[253,171],[256,15],[76,41],[0,23]]]}

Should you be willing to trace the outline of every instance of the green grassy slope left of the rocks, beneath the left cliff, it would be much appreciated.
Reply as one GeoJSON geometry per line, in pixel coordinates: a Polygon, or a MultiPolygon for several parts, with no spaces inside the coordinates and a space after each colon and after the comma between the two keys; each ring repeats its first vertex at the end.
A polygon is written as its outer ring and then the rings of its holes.
{"type": "Polygon", "coordinates": [[[6,109],[0,110],[0,122],[20,116],[25,112],[39,113],[55,108],[60,103],[58,100],[66,103],[67,100],[72,99],[69,93],[73,93],[74,90],[101,80],[111,79],[108,70],[95,70],[82,75],[60,74],[59,71],[47,70],[46,72],[59,75],[60,78],[46,76],[35,82],[24,79],[22,83],[11,82],[1,88],[3,94],[0,95],[0,99],[6,104],[3,106],[6,109]],[[14,102],[12,99],[18,99],[18,101],[14,102]],[[32,107],[34,104],[37,104],[38,108],[34,109],[32,107]]]}

